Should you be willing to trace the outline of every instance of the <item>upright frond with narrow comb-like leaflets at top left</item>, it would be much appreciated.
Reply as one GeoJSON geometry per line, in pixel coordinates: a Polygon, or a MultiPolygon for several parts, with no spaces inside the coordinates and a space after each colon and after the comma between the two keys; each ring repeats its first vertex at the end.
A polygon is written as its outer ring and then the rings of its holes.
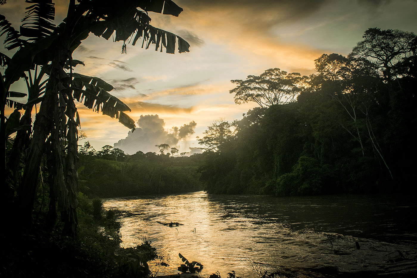
{"type": "Polygon", "coordinates": [[[28,40],[39,40],[51,35],[55,29],[52,21],[55,19],[55,4],[52,0],[26,0],[33,4],[26,8],[25,22],[20,26],[20,34],[28,37],[28,40]]]}

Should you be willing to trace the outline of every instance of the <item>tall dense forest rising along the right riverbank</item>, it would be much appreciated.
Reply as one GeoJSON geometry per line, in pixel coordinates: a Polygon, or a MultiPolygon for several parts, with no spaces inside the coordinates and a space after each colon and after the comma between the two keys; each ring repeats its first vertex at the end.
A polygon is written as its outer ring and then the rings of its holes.
{"type": "Polygon", "coordinates": [[[206,190],[414,191],[416,41],[414,33],[371,28],[348,57],[315,60],[317,74],[275,68],[232,81],[236,103],[261,107],[240,121],[215,121],[199,139],[206,146],[200,168],[206,190]]]}

